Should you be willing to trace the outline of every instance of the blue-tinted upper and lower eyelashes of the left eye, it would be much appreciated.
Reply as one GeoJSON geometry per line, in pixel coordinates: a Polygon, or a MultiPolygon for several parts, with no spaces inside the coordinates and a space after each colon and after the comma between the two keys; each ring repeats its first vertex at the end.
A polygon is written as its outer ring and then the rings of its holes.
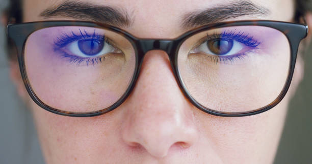
{"type": "Polygon", "coordinates": [[[87,66],[89,64],[97,64],[99,62],[102,62],[105,60],[105,56],[98,56],[98,57],[79,57],[75,55],[71,55],[64,50],[61,50],[68,44],[79,41],[82,39],[97,39],[99,41],[105,41],[107,44],[110,44],[109,39],[105,37],[104,34],[97,34],[95,30],[93,31],[93,34],[90,35],[86,30],[84,32],[79,29],[80,34],[75,34],[73,31],[70,32],[70,35],[63,33],[60,37],[57,37],[56,40],[54,41],[54,51],[59,51],[61,52],[62,58],[66,58],[69,60],[70,63],[76,63],[76,65],[80,65],[82,62],[86,62],[87,66]]]}

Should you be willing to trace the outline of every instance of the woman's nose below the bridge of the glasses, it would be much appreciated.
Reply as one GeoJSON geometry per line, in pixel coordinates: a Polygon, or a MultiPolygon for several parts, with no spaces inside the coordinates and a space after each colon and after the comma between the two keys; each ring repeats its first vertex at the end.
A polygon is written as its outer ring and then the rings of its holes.
{"type": "Polygon", "coordinates": [[[198,137],[192,105],[179,89],[166,52],[148,51],[125,104],[122,139],[153,157],[183,151],[198,137]]]}

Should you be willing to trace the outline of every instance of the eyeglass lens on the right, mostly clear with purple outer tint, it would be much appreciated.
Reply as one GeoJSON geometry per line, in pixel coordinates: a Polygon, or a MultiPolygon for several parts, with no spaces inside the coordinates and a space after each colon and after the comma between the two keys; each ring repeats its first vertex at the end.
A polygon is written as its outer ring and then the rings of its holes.
{"type": "Polygon", "coordinates": [[[178,69],[191,96],[219,112],[248,112],[272,103],[290,68],[287,37],[265,26],[203,31],[179,49],[178,69]]]}

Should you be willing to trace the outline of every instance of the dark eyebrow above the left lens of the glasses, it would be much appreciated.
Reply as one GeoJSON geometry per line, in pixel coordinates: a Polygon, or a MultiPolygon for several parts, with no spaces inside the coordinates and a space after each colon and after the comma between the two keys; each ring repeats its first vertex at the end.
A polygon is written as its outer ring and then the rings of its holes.
{"type": "Polygon", "coordinates": [[[96,21],[120,27],[130,26],[132,21],[125,10],[98,6],[88,2],[65,1],[57,7],[50,7],[40,13],[43,18],[69,17],[79,20],[96,21]]]}

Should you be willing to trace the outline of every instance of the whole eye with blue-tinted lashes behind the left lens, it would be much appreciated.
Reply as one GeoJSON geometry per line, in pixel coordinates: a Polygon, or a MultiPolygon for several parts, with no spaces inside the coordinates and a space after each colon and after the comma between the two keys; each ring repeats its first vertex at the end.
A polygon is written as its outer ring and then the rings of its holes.
{"type": "Polygon", "coordinates": [[[105,34],[82,29],[79,29],[77,33],[62,32],[61,36],[54,41],[54,51],[71,63],[94,65],[105,60],[107,54],[122,53],[105,34]]]}

